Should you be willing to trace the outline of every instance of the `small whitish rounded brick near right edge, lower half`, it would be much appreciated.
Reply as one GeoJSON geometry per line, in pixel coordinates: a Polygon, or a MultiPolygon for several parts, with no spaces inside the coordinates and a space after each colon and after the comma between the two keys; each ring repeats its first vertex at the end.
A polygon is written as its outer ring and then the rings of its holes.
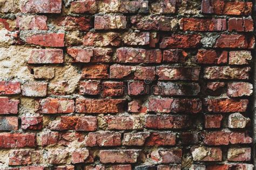
{"type": "Polygon", "coordinates": [[[244,117],[240,113],[230,114],[228,117],[228,127],[229,128],[245,128],[248,123],[250,123],[250,118],[244,117]]]}

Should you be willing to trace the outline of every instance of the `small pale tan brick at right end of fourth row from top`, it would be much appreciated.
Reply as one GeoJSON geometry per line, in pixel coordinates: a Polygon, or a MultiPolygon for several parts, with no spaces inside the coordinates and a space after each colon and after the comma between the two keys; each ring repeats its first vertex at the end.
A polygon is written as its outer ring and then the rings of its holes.
{"type": "Polygon", "coordinates": [[[229,64],[242,65],[249,64],[252,61],[251,51],[230,51],[229,64]]]}

